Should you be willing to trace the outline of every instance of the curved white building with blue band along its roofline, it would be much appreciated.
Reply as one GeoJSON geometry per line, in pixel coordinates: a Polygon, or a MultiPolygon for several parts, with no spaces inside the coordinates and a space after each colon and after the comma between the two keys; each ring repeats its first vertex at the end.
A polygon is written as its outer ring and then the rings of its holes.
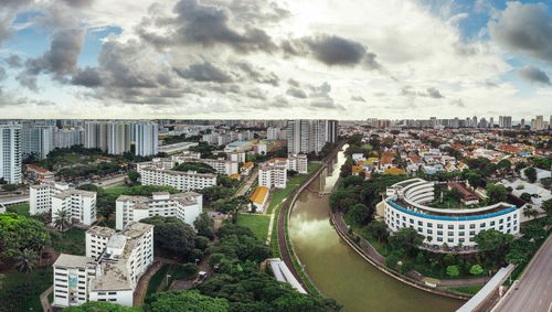
{"type": "Polygon", "coordinates": [[[384,219],[391,232],[412,227],[425,236],[427,247],[443,245],[463,250],[477,249],[474,240],[479,232],[493,228],[505,234],[519,234],[520,209],[507,203],[479,208],[434,208],[434,182],[411,179],[388,187],[384,219]],[[429,240],[431,238],[431,240],[429,240]]]}

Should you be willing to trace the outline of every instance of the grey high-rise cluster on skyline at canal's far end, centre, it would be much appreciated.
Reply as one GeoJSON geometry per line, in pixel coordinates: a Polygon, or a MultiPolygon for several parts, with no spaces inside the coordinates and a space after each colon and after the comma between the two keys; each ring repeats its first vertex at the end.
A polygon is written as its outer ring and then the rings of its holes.
{"type": "Polygon", "coordinates": [[[336,142],[338,138],[337,120],[288,120],[287,152],[318,153],[327,142],[336,142]]]}

